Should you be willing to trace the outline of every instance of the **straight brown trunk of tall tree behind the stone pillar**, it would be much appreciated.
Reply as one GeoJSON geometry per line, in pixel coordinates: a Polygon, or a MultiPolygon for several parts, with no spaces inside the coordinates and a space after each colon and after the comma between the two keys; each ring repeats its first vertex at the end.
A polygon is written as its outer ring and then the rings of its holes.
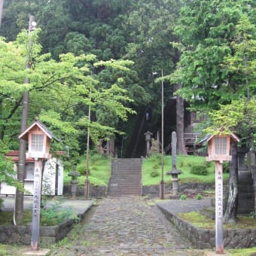
{"type": "MultiPolygon", "coordinates": [[[[177,88],[178,89],[178,88],[177,88]]],[[[187,154],[184,142],[184,99],[176,98],[177,153],[187,154]]]]}

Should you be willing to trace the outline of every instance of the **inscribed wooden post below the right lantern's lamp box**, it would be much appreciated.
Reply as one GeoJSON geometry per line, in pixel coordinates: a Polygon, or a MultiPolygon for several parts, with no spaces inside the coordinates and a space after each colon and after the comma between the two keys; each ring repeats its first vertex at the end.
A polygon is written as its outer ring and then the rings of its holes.
{"type": "Polygon", "coordinates": [[[215,246],[216,253],[223,254],[223,168],[215,161],[215,246]]]}

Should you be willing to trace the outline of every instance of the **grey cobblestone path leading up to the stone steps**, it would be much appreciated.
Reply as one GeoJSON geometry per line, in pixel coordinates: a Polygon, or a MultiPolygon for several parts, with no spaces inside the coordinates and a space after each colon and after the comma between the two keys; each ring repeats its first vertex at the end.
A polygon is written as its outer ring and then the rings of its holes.
{"type": "Polygon", "coordinates": [[[53,250],[50,255],[183,256],[202,253],[192,249],[190,242],[156,206],[139,197],[120,197],[102,200],[72,245],[53,250]]]}

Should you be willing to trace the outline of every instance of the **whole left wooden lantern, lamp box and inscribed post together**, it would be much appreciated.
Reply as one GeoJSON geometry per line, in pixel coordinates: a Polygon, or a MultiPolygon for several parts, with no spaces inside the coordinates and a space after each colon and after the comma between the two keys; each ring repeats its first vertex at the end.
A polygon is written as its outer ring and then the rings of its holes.
{"type": "Polygon", "coordinates": [[[47,130],[44,124],[38,120],[35,120],[29,128],[21,133],[19,139],[28,141],[29,151],[27,152],[26,157],[32,157],[35,160],[31,249],[32,251],[38,251],[43,160],[51,158],[50,140],[59,140],[56,139],[56,137],[47,130]]]}

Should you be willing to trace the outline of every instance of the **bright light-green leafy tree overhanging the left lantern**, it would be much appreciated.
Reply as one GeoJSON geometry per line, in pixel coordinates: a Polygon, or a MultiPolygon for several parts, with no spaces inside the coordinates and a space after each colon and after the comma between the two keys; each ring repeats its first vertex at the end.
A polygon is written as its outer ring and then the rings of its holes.
{"type": "MultiPolygon", "coordinates": [[[[38,117],[50,126],[50,130],[57,137],[62,138],[62,145],[53,145],[53,150],[62,149],[57,147],[62,147],[63,144],[69,147],[71,145],[72,160],[75,163],[79,153],[78,136],[84,133],[84,127],[90,126],[93,141],[119,132],[108,123],[88,123],[84,113],[74,118],[77,111],[88,106],[102,105],[108,109],[108,114],[126,120],[126,114],[134,112],[125,106],[131,99],[126,96],[126,90],[117,84],[112,84],[110,88],[96,87],[100,81],[97,77],[92,78],[90,74],[90,67],[96,56],[66,53],[56,61],[51,59],[50,54],[41,54],[41,45],[37,42],[38,32],[36,30],[28,35],[23,31],[18,35],[17,41],[6,43],[3,38],[0,41],[2,141],[7,142],[10,139],[13,145],[17,145],[17,139],[14,138],[20,132],[17,124],[20,123],[22,96],[24,91],[29,91],[29,120],[38,117]],[[33,43],[31,36],[34,38],[33,43]],[[28,54],[31,69],[25,69],[28,54]],[[11,63],[14,65],[10,66],[11,63]],[[24,78],[28,78],[30,83],[23,84],[24,78]]],[[[123,60],[93,63],[94,66],[103,66],[102,69],[109,66],[123,71],[128,71],[126,66],[131,64],[132,62],[123,60]]]]}

